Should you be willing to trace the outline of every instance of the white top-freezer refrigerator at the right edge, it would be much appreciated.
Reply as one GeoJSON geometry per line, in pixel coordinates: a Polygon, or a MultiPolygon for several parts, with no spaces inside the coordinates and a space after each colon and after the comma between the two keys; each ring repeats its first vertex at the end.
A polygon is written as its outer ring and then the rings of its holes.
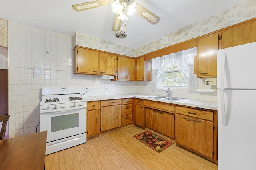
{"type": "Polygon", "coordinates": [[[256,170],[256,42],[218,50],[218,169],[256,170]]]}

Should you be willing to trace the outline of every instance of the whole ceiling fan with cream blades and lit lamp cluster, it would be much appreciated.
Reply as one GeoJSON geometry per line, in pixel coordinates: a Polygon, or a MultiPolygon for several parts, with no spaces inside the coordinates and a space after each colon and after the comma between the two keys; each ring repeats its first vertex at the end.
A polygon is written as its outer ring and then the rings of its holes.
{"type": "MultiPolygon", "coordinates": [[[[116,14],[114,18],[112,31],[120,30],[122,20],[128,19],[128,17],[126,16],[126,12],[128,16],[131,16],[133,12],[136,12],[139,16],[141,16],[142,18],[144,18],[145,20],[147,20],[153,25],[158,23],[160,20],[160,17],[156,16],[155,14],[153,14],[152,12],[150,12],[140,4],[134,2],[134,0],[96,0],[96,1],[86,2],[82,4],[72,5],[72,7],[76,11],[83,11],[83,10],[98,8],[98,7],[106,6],[110,4],[111,4],[112,11],[116,14]],[[132,12],[129,11],[130,9],[132,9],[132,12]]],[[[120,30],[120,32],[122,31],[125,32],[124,25],[122,26],[122,29],[120,30]]]]}

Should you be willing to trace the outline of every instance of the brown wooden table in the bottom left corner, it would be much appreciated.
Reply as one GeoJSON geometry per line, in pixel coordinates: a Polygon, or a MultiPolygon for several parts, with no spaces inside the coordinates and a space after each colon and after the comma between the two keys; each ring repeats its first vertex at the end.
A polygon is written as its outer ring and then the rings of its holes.
{"type": "Polygon", "coordinates": [[[47,131],[0,140],[0,170],[44,170],[47,131]]]}

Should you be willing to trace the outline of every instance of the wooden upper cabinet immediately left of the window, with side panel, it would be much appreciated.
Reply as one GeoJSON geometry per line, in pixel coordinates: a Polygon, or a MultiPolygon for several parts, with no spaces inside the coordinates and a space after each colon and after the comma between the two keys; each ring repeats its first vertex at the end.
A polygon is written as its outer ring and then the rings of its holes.
{"type": "Polygon", "coordinates": [[[136,81],[151,81],[151,59],[136,58],[136,81]]]}

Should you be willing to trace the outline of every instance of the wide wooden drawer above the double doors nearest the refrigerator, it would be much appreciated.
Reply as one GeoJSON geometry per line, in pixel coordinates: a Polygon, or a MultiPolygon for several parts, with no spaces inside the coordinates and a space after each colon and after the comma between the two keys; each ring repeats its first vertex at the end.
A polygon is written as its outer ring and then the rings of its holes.
{"type": "Polygon", "coordinates": [[[176,106],[176,113],[213,121],[213,112],[211,111],[202,111],[189,107],[176,106]]]}

